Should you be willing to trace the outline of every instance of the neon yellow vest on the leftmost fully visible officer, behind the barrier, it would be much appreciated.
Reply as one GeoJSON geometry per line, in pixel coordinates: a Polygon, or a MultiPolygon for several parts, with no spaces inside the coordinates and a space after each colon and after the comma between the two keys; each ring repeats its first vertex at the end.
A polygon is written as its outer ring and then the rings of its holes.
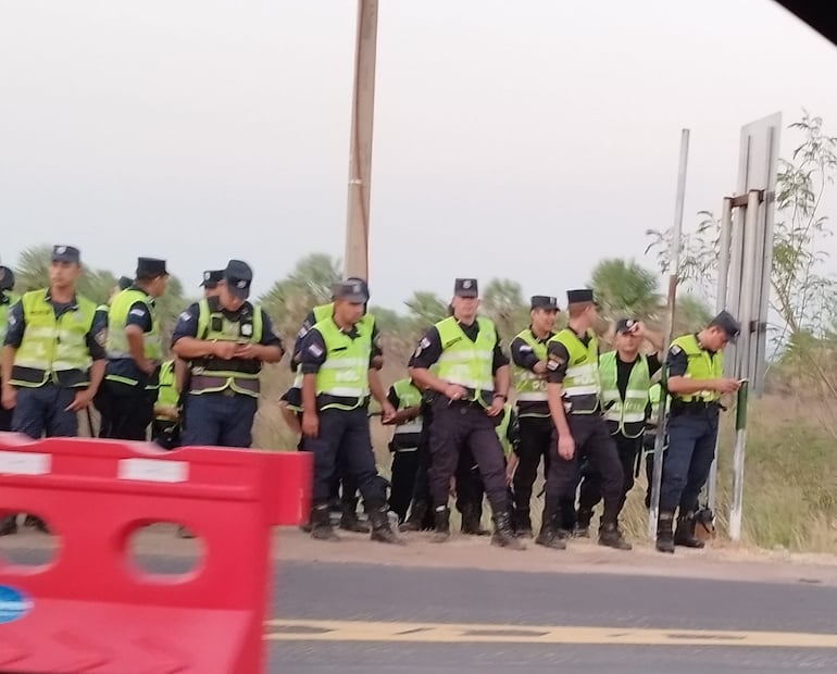
{"type": "Polygon", "coordinates": [[[21,299],[26,327],[14,354],[11,383],[42,386],[51,378],[72,386],[87,386],[92,362],[87,336],[92,329],[96,304],[77,295],[75,309],[55,319],[55,309],[47,301],[47,292],[33,290],[21,299]]]}

